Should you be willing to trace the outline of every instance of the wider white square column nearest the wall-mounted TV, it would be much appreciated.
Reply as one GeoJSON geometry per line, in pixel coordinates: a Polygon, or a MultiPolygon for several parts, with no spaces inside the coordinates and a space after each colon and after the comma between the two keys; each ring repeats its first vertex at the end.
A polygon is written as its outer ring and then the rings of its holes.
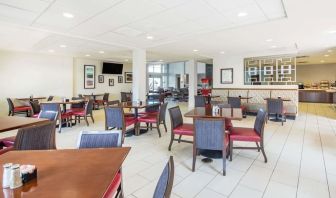
{"type": "Polygon", "coordinates": [[[146,66],[146,50],[133,50],[133,101],[146,100],[147,93],[147,66],[146,66]]]}

